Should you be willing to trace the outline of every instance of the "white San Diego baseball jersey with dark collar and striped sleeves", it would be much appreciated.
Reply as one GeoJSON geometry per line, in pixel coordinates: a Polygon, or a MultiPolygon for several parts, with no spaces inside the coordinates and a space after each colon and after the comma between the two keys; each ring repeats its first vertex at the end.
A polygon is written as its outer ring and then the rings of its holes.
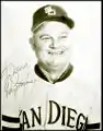
{"type": "Polygon", "coordinates": [[[38,66],[8,63],[2,71],[2,130],[100,128],[100,99],[71,68],[49,83],[38,66]]]}

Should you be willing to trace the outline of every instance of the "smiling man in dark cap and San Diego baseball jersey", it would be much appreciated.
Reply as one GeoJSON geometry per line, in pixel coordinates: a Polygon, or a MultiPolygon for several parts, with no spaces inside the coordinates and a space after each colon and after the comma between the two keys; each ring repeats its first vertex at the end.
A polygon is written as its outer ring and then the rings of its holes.
{"type": "Polygon", "coordinates": [[[9,63],[4,68],[2,130],[100,128],[95,96],[75,79],[70,63],[73,26],[73,20],[58,5],[48,4],[34,13],[30,44],[37,64],[9,63]]]}

